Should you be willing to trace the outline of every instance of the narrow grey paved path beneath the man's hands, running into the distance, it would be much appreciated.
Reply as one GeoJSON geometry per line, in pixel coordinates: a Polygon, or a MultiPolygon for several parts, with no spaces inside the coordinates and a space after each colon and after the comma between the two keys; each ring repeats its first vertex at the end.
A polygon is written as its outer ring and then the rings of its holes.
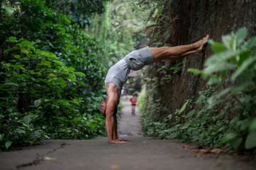
{"type": "Polygon", "coordinates": [[[130,114],[130,102],[122,100],[123,116],[119,121],[121,137],[130,139],[113,145],[107,137],[93,140],[45,140],[43,145],[0,152],[0,169],[255,169],[246,157],[230,154],[200,154],[174,140],[154,140],[141,135],[140,115],[130,114]],[[246,159],[246,160],[245,160],[246,159]]]}

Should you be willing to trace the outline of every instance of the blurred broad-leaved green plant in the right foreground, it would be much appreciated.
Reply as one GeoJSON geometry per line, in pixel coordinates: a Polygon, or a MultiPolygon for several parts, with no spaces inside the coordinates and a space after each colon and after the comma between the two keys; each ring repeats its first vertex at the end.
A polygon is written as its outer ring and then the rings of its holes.
{"type": "Polygon", "coordinates": [[[204,70],[188,69],[204,78],[210,77],[208,84],[221,86],[221,91],[208,98],[208,108],[233,100],[236,117],[222,142],[231,142],[236,149],[256,147],[256,36],[244,42],[246,36],[247,29],[240,28],[224,35],[223,43],[208,40],[216,54],[206,60],[204,70]],[[228,72],[233,74],[227,76],[228,72]]]}

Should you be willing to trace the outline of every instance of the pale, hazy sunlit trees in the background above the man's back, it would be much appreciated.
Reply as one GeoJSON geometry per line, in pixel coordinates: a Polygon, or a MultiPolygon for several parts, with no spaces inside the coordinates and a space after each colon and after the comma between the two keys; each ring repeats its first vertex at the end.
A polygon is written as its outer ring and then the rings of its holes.
{"type": "Polygon", "coordinates": [[[144,11],[134,11],[131,0],[113,0],[106,5],[105,13],[96,15],[89,35],[97,38],[104,47],[105,66],[111,67],[122,55],[135,50],[138,41],[145,38],[139,30],[144,28],[147,15],[144,11]]]}

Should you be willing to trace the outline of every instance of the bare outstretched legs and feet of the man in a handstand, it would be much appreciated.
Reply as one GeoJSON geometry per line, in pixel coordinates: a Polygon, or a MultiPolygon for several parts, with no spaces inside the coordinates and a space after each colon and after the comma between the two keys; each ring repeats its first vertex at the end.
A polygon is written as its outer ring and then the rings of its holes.
{"type": "Polygon", "coordinates": [[[179,45],[176,47],[150,47],[153,62],[159,62],[161,60],[178,60],[186,57],[187,55],[201,52],[208,38],[209,35],[206,35],[205,38],[191,45],[179,45]]]}

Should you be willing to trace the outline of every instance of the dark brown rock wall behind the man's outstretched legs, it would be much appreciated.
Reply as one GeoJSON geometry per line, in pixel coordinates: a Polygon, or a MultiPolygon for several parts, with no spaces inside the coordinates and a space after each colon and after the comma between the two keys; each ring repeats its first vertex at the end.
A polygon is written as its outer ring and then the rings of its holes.
{"type": "MultiPolygon", "coordinates": [[[[209,34],[211,39],[221,42],[221,35],[235,32],[242,27],[248,29],[247,39],[256,35],[254,0],[177,0],[172,1],[171,6],[172,9],[164,10],[169,10],[173,17],[178,16],[174,21],[172,36],[168,40],[172,45],[196,42],[206,34],[209,34]]],[[[187,69],[203,69],[204,62],[211,55],[213,51],[210,45],[207,45],[202,54],[190,55],[182,61],[169,62],[168,67],[180,64],[182,68],[175,74],[169,72],[172,80],[158,84],[155,95],[155,98],[162,98],[162,106],[166,106],[169,112],[174,113],[177,108],[181,108],[188,98],[196,100],[199,97],[198,92],[204,89],[206,81],[199,75],[187,72],[187,69]]],[[[158,82],[161,82],[163,75],[157,70],[166,64],[155,63],[150,67],[149,77],[157,77],[158,82]]]]}

